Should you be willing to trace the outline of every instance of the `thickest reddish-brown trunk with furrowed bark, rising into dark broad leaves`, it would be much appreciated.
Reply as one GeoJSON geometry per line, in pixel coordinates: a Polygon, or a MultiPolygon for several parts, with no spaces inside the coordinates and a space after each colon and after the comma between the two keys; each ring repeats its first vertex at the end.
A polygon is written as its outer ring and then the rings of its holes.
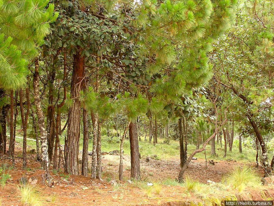
{"type": "Polygon", "coordinates": [[[81,52],[78,51],[73,59],[73,71],[71,80],[72,104],[68,112],[67,143],[65,153],[65,172],[78,175],[78,154],[81,123],[81,102],[79,92],[82,89],[84,78],[84,60],[81,52]]]}

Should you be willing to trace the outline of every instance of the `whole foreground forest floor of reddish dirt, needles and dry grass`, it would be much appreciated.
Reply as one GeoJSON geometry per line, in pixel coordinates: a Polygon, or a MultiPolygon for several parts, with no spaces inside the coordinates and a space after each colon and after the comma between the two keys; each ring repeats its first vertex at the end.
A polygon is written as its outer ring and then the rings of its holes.
{"type": "MultiPolygon", "coordinates": [[[[0,189],[0,202],[2,205],[23,205],[21,202],[19,179],[26,177],[37,178],[38,182],[33,186],[33,190],[38,194],[37,201],[40,205],[179,205],[178,201],[191,204],[220,204],[226,199],[238,200],[274,200],[273,181],[264,186],[246,190],[239,193],[237,189],[225,185],[223,177],[234,167],[243,167],[247,164],[262,173],[261,169],[255,168],[254,163],[243,163],[233,160],[218,160],[215,165],[207,163],[204,159],[191,161],[185,176],[195,183],[195,188],[191,190],[186,183],[178,183],[178,172],[180,171],[179,159],[168,158],[156,160],[141,158],[142,181],[130,182],[130,156],[125,155],[124,177],[125,181],[117,182],[119,155],[106,154],[103,156],[103,181],[91,181],[90,177],[82,175],[68,175],[63,172],[51,170],[51,186],[41,184],[40,163],[37,162],[36,155],[27,154],[27,168],[22,168],[21,144],[16,143],[15,165],[8,172],[11,177],[5,186],[0,189]],[[115,180],[116,179],[116,180],[115,180]],[[215,183],[208,183],[207,181],[215,183]],[[147,186],[153,183],[153,186],[147,186]]],[[[81,158],[81,153],[79,158],[81,158]]],[[[91,162],[91,156],[89,156],[91,162]]],[[[10,158],[2,158],[2,167],[12,165],[10,158]]],[[[272,179],[273,180],[273,179],[272,179]]],[[[39,205],[35,203],[33,205],[39,205]]],[[[1,204],[0,204],[1,205],[1,204]]]]}

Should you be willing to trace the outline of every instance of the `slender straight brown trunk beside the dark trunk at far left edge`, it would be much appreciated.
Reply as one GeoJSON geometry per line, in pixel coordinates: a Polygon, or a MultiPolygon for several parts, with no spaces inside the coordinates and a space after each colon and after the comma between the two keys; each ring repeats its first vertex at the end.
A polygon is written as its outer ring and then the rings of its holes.
{"type": "Polygon", "coordinates": [[[12,160],[14,159],[14,139],[13,136],[13,115],[14,115],[14,98],[13,98],[13,90],[10,90],[10,120],[9,120],[9,155],[12,156],[12,160]]]}

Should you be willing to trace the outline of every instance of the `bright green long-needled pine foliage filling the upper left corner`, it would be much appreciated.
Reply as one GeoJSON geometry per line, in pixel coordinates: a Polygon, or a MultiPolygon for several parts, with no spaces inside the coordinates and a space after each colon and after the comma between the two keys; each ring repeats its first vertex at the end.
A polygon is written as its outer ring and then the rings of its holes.
{"type": "Polygon", "coordinates": [[[53,4],[47,0],[0,1],[1,88],[25,86],[26,65],[39,54],[44,37],[50,33],[49,23],[58,16],[58,13],[53,14],[53,10],[53,4]]]}

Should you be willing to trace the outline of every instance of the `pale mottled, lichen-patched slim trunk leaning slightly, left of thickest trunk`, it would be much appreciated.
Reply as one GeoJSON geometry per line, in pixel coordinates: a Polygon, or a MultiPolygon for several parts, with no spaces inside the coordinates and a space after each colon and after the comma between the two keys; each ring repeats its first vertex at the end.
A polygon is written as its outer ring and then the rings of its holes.
{"type": "Polygon", "coordinates": [[[44,113],[41,107],[41,100],[39,95],[39,62],[36,58],[34,60],[35,70],[33,74],[33,94],[34,94],[34,104],[36,106],[36,112],[38,117],[38,127],[40,130],[41,139],[41,153],[42,153],[42,168],[45,171],[49,170],[48,165],[48,153],[47,153],[47,131],[44,124],[44,113]]]}

